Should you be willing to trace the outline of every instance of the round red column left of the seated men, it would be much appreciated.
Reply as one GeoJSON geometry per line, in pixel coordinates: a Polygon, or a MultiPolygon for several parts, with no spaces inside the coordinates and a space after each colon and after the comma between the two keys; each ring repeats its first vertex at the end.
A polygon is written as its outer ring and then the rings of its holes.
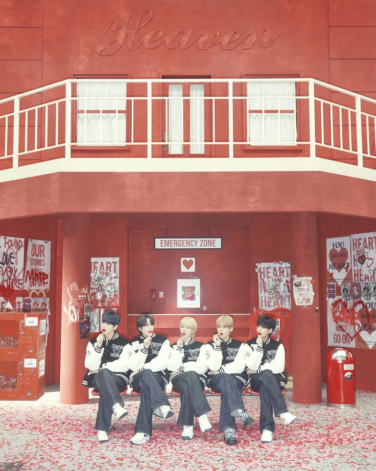
{"type": "Polygon", "coordinates": [[[66,215],[63,222],[60,402],[83,404],[88,388],[82,386],[88,339],[80,339],[79,317],[90,288],[90,216],[66,215]]]}

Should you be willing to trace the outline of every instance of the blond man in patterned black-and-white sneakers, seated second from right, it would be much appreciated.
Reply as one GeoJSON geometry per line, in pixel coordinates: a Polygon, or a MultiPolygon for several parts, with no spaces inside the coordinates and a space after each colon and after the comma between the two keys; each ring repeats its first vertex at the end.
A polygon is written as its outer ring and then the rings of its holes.
{"type": "Polygon", "coordinates": [[[221,393],[221,409],[219,430],[223,431],[227,445],[236,445],[237,426],[235,418],[239,418],[244,427],[254,420],[244,408],[242,392],[248,381],[245,373],[244,349],[240,340],[231,338],[233,319],[229,315],[221,315],[216,320],[217,334],[207,344],[208,353],[208,386],[221,393]]]}

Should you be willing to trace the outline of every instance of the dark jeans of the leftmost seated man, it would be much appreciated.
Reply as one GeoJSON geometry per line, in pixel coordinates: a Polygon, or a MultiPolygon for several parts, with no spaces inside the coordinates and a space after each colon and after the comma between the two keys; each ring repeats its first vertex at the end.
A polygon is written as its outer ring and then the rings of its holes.
{"type": "Polygon", "coordinates": [[[124,391],[127,382],[112,371],[104,368],[95,375],[92,386],[99,391],[98,414],[96,430],[109,432],[111,428],[112,406],[116,402],[123,404],[120,391],[124,391]]]}

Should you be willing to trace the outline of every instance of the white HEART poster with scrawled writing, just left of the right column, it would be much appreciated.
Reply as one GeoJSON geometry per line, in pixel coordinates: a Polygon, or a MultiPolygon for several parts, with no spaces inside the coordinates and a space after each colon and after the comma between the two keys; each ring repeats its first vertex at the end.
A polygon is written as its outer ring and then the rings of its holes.
{"type": "Polygon", "coordinates": [[[259,308],[291,310],[290,263],[257,263],[259,308]]]}

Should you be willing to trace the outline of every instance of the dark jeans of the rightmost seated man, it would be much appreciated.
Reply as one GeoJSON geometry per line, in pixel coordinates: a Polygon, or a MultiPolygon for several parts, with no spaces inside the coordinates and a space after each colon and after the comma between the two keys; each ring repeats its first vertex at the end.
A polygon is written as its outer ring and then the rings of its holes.
{"type": "Polygon", "coordinates": [[[253,391],[260,392],[260,431],[270,430],[274,433],[274,415],[287,412],[286,402],[271,370],[263,370],[251,376],[250,387],[253,391]]]}

